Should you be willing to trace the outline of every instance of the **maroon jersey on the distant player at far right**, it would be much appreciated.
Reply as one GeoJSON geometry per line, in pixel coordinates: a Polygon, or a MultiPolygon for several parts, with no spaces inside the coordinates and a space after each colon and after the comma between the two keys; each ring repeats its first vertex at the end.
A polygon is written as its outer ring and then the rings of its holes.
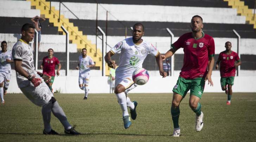
{"type": "Polygon", "coordinates": [[[234,77],[236,75],[235,61],[240,61],[236,52],[231,51],[230,55],[226,54],[225,51],[220,52],[219,61],[220,77],[234,77]]]}

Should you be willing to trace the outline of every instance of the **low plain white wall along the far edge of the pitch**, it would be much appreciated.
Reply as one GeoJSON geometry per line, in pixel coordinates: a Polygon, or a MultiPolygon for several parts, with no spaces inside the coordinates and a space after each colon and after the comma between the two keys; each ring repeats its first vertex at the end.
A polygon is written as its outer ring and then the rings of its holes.
{"type": "MultiPolygon", "coordinates": [[[[108,77],[91,77],[89,93],[109,93],[108,77]]],[[[147,84],[138,86],[130,93],[171,93],[178,77],[151,76],[147,84]]],[[[235,77],[233,92],[256,92],[256,76],[235,77]]],[[[220,77],[212,77],[213,87],[205,85],[204,92],[223,92],[220,87],[220,77]]],[[[206,81],[207,83],[207,81],[206,81]]],[[[53,89],[61,93],[84,93],[78,87],[78,76],[56,77],[53,83],[53,89]]],[[[15,76],[12,76],[8,93],[21,93],[18,88],[15,76]]]]}

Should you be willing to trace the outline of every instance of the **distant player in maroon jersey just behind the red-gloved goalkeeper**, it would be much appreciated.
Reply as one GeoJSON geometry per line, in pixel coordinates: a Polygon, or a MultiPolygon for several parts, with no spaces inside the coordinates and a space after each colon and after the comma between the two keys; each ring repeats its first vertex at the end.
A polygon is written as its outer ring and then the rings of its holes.
{"type": "Polygon", "coordinates": [[[49,86],[50,90],[53,92],[52,84],[55,78],[55,67],[56,65],[58,65],[58,69],[56,73],[57,73],[57,76],[59,76],[59,70],[61,69],[61,64],[59,62],[59,59],[52,55],[53,55],[53,49],[50,48],[48,49],[48,56],[45,56],[43,58],[43,62],[40,68],[43,70],[43,74],[47,73],[49,76],[51,76],[51,81],[49,81],[47,85],[49,86]]]}

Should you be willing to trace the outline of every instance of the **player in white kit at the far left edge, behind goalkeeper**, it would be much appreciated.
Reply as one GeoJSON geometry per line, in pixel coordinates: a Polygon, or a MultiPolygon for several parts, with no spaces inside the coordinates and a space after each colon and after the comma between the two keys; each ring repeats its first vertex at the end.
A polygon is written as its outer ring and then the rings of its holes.
{"type": "Polygon", "coordinates": [[[6,95],[7,93],[7,89],[9,87],[9,83],[11,80],[11,62],[13,62],[13,59],[12,51],[7,50],[6,41],[1,42],[1,48],[2,50],[0,51],[0,97],[1,104],[4,104],[4,95],[6,95]]]}

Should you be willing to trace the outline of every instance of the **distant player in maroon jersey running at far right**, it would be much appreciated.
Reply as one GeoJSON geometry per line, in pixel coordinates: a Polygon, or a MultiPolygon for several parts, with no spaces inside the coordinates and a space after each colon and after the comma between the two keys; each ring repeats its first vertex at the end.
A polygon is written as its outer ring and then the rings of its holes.
{"type": "Polygon", "coordinates": [[[241,65],[242,62],[238,57],[237,53],[231,51],[231,42],[225,43],[225,51],[220,52],[218,61],[216,62],[216,69],[219,68],[220,62],[220,84],[221,88],[228,95],[227,105],[230,105],[232,96],[232,85],[234,84],[234,79],[236,75],[236,67],[241,65]],[[236,63],[236,61],[238,63],[236,63]],[[228,87],[227,87],[228,86],[228,87]],[[228,89],[228,90],[227,90],[228,89]]]}

